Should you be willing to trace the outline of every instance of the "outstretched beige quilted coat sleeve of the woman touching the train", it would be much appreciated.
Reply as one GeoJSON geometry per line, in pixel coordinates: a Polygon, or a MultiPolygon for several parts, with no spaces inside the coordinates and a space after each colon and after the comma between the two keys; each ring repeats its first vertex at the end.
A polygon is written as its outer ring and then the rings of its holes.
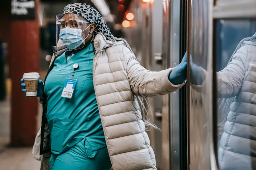
{"type": "Polygon", "coordinates": [[[186,83],[185,81],[182,84],[174,85],[169,81],[168,75],[173,68],[162,71],[149,71],[140,65],[128,48],[123,47],[123,53],[130,86],[137,96],[153,97],[165,95],[180,89],[186,83]]]}

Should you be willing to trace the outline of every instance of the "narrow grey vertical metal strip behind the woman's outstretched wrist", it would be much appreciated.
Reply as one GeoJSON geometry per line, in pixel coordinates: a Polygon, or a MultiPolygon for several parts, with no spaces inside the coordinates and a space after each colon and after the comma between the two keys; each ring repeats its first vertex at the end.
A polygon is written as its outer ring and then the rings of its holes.
{"type": "MultiPolygon", "coordinates": [[[[180,63],[181,1],[170,3],[170,67],[180,63]]],[[[170,169],[180,169],[180,108],[179,90],[170,94],[170,169]]]]}

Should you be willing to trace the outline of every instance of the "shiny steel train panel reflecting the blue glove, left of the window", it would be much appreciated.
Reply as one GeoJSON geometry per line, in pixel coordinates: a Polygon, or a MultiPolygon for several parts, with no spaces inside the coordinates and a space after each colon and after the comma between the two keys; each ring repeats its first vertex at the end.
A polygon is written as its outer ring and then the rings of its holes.
{"type": "Polygon", "coordinates": [[[188,156],[189,169],[211,169],[212,153],[212,1],[188,4],[188,156]],[[209,50],[210,49],[210,50],[209,50]],[[200,74],[197,68],[205,70],[200,74]]]}

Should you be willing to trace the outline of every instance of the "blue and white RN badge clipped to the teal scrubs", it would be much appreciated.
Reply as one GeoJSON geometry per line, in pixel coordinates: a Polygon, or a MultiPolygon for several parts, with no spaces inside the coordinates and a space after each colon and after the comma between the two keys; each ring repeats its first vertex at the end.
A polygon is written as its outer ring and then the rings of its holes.
{"type": "Polygon", "coordinates": [[[72,98],[77,80],[76,77],[67,76],[61,97],[72,98]]]}

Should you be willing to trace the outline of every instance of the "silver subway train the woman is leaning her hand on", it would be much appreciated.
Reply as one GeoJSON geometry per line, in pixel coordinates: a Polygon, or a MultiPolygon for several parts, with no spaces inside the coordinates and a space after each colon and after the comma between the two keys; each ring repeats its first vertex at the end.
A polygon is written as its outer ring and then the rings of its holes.
{"type": "Polygon", "coordinates": [[[255,9],[255,0],[131,1],[123,31],[145,68],[175,67],[187,51],[186,86],[151,99],[159,170],[256,169],[256,54],[244,51],[255,49],[255,9]]]}

